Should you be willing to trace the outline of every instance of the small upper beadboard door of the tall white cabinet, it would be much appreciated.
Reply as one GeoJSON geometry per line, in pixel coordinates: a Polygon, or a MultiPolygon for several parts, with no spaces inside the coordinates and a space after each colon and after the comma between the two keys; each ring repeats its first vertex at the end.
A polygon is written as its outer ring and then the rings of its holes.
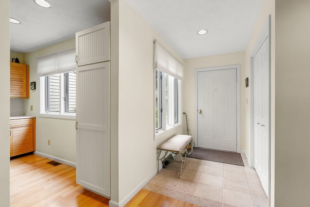
{"type": "Polygon", "coordinates": [[[76,33],[78,66],[110,60],[110,22],[76,33]]]}

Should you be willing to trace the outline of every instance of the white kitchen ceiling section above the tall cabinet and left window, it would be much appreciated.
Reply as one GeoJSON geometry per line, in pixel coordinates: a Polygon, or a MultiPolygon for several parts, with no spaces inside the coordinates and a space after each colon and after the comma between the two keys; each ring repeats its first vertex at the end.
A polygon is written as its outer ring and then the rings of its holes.
{"type": "Polygon", "coordinates": [[[110,20],[109,0],[48,0],[52,7],[34,0],[10,0],[11,50],[27,53],[75,37],[75,33],[110,20]]]}

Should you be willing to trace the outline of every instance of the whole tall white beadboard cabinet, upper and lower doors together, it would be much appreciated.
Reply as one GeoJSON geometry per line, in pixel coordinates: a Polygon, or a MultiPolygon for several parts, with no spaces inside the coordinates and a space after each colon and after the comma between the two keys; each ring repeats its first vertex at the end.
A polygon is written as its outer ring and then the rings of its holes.
{"type": "Polygon", "coordinates": [[[77,183],[110,196],[110,22],[76,33],[77,183]]]}

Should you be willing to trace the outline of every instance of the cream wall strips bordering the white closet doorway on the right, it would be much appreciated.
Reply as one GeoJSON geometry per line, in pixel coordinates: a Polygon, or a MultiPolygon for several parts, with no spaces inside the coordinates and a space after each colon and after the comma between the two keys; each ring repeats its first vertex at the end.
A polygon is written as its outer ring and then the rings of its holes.
{"type": "MultiPolygon", "coordinates": [[[[245,51],[245,74],[244,77],[249,77],[250,74],[250,56],[252,55],[253,50],[256,47],[257,41],[260,41],[259,35],[263,29],[263,25],[268,19],[268,16],[271,15],[271,75],[270,75],[270,80],[271,80],[271,122],[270,122],[270,130],[271,130],[271,197],[270,197],[270,202],[271,206],[274,204],[274,149],[275,149],[275,0],[264,0],[263,5],[261,8],[261,11],[257,17],[257,20],[255,24],[253,25],[253,31],[251,33],[251,36],[248,40],[248,45],[245,51]]],[[[244,99],[250,100],[250,87],[245,88],[244,90],[244,99]]],[[[250,101],[248,101],[248,104],[244,104],[244,108],[242,109],[243,111],[243,119],[244,119],[244,124],[241,124],[244,126],[244,135],[245,135],[245,145],[244,145],[244,150],[246,151],[246,154],[249,156],[250,155],[250,101]]]]}

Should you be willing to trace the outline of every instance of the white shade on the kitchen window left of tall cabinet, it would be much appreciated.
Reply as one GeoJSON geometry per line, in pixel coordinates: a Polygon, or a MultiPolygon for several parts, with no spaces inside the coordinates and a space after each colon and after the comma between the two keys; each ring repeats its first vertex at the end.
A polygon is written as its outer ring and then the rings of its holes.
{"type": "Polygon", "coordinates": [[[37,58],[37,77],[76,70],[76,50],[70,48],[37,58]]]}

